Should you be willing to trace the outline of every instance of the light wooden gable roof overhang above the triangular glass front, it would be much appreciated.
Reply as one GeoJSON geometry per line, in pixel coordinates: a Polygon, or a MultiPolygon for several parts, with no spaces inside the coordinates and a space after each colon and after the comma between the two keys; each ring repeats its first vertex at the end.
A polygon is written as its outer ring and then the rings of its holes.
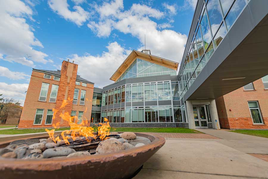
{"type": "Polygon", "coordinates": [[[149,61],[154,64],[158,64],[167,68],[170,68],[172,70],[178,69],[178,62],[171,61],[165,58],[161,58],[155,55],[143,53],[137,50],[132,50],[132,52],[127,56],[127,58],[123,61],[123,63],[119,66],[119,68],[114,72],[114,74],[111,76],[110,80],[117,81],[118,78],[127,70],[128,67],[135,61],[136,58],[139,58],[141,60],[149,61]]]}

